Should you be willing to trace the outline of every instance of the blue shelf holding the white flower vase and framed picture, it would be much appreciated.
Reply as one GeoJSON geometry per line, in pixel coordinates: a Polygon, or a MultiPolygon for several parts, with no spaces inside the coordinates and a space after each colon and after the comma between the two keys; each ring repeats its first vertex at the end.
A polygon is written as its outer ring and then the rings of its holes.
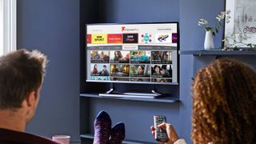
{"type": "Polygon", "coordinates": [[[256,50],[180,50],[179,54],[193,55],[256,55],[256,50]]]}

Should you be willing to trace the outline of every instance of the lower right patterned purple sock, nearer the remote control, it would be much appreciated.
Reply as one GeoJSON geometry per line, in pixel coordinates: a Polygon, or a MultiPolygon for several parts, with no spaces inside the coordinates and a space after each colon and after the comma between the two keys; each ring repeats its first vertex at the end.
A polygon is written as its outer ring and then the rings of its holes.
{"type": "Polygon", "coordinates": [[[110,144],[121,144],[126,138],[126,128],[123,122],[114,125],[110,134],[110,144]]]}

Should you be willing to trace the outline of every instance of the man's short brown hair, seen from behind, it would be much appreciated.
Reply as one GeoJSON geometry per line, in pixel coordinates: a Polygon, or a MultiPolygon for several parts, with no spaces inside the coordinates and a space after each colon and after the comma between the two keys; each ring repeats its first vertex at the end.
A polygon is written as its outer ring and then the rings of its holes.
{"type": "Polygon", "coordinates": [[[0,109],[16,109],[42,85],[47,58],[38,50],[10,52],[0,58],[0,109]]]}

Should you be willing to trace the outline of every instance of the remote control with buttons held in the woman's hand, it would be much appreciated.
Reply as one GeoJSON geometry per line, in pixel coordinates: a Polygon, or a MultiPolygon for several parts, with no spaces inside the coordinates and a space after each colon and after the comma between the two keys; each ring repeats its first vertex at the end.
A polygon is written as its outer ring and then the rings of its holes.
{"type": "Polygon", "coordinates": [[[162,122],[166,122],[166,117],[162,115],[154,115],[154,138],[158,142],[167,142],[168,136],[166,134],[165,129],[160,129],[158,125],[160,125],[162,122]]]}

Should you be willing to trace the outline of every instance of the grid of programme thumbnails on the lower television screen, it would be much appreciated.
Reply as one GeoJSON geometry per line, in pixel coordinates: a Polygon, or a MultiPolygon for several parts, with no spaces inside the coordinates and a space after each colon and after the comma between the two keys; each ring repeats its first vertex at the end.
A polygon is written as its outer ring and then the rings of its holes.
{"type": "Polygon", "coordinates": [[[91,80],[171,82],[170,51],[90,51],[90,62],[91,80]]]}

